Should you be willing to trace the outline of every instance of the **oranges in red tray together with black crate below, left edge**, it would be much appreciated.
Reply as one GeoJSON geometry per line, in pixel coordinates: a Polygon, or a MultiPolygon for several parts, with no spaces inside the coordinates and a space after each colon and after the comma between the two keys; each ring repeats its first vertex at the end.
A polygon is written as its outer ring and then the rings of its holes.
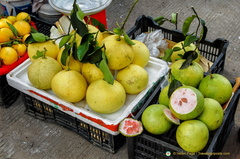
{"type": "Polygon", "coordinates": [[[8,85],[6,74],[28,58],[24,39],[32,32],[32,28],[36,29],[36,26],[26,12],[2,16],[0,19],[0,105],[6,108],[19,96],[19,91],[8,85]]]}

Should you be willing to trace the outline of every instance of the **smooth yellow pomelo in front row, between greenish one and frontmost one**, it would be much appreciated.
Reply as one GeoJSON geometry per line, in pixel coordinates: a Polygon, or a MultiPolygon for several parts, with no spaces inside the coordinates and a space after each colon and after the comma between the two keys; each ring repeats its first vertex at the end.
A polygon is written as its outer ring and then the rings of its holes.
{"type": "Polygon", "coordinates": [[[74,70],[62,70],[52,79],[52,90],[61,99],[79,102],[87,90],[87,82],[81,73],[74,70]]]}

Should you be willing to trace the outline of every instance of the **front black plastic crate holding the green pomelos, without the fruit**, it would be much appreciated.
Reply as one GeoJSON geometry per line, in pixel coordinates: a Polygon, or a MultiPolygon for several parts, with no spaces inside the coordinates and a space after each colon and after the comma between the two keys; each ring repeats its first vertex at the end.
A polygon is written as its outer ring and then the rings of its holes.
{"type": "MultiPolygon", "coordinates": [[[[146,101],[145,105],[134,117],[141,120],[143,111],[151,104],[158,102],[161,86],[153,92],[152,96],[146,101]]],[[[200,153],[188,153],[180,148],[176,141],[175,133],[177,126],[173,127],[165,134],[152,135],[147,131],[136,137],[127,138],[128,156],[131,159],[217,159],[219,156],[229,155],[222,152],[222,148],[234,126],[234,115],[239,102],[240,89],[232,97],[228,108],[225,111],[222,125],[215,131],[210,132],[209,141],[200,153]],[[171,155],[167,156],[166,153],[171,155]],[[219,154],[219,153],[223,154],[219,154]],[[205,154],[204,154],[205,153],[205,154]]]]}

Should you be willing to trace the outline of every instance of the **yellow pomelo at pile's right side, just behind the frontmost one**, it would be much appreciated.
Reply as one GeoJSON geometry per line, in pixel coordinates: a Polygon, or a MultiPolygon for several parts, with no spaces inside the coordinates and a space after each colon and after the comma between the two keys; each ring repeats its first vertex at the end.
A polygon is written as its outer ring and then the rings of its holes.
{"type": "Polygon", "coordinates": [[[123,85],[126,93],[137,94],[147,87],[148,73],[143,67],[130,64],[118,71],[116,80],[123,85]]]}

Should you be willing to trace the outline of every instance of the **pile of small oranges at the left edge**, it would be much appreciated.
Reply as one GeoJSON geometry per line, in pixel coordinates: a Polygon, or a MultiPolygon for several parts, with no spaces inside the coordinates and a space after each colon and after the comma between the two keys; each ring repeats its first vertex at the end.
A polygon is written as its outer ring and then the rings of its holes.
{"type": "Polygon", "coordinates": [[[30,21],[31,17],[26,12],[0,19],[0,61],[2,64],[11,65],[27,52],[24,39],[31,33],[30,21]],[[13,28],[17,32],[14,32],[13,28]]]}

